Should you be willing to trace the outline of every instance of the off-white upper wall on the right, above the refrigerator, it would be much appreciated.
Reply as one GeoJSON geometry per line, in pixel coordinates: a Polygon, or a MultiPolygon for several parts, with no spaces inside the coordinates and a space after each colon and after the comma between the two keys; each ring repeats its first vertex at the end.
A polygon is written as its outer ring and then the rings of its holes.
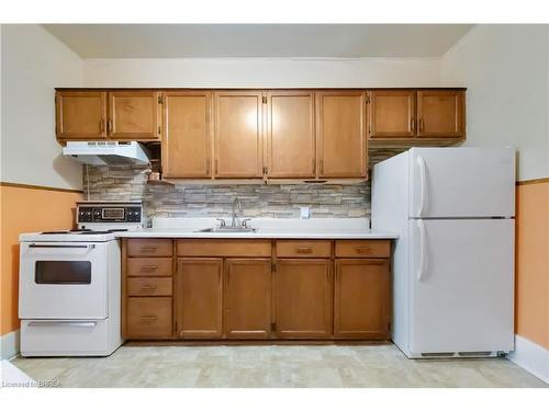
{"type": "Polygon", "coordinates": [[[518,180],[549,175],[549,26],[477,25],[441,59],[467,87],[467,146],[513,145],[518,180]]]}

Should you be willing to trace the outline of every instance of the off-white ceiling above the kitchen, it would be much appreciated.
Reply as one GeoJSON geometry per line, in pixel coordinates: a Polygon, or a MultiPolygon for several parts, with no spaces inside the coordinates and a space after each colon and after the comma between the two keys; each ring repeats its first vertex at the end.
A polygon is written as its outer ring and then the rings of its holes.
{"type": "Polygon", "coordinates": [[[471,24],[45,24],[83,58],[438,57],[471,24]]]}

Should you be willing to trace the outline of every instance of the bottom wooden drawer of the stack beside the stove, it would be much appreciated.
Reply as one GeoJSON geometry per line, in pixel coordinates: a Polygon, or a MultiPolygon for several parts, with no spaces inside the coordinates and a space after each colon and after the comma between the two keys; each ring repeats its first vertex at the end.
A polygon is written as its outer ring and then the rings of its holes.
{"type": "Polygon", "coordinates": [[[172,334],[171,298],[127,298],[127,338],[166,338],[172,334]]]}

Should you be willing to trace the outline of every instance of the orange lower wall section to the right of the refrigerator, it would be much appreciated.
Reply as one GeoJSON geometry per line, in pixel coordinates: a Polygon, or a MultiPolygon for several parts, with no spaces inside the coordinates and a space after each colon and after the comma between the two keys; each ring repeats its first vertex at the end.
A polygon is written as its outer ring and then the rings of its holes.
{"type": "Polygon", "coordinates": [[[517,186],[516,333],[549,350],[549,181],[517,186]]]}

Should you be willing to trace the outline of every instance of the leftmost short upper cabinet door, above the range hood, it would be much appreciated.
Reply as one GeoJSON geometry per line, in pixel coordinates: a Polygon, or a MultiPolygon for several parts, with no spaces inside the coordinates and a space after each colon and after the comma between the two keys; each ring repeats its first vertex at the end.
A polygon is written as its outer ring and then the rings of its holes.
{"type": "Polygon", "coordinates": [[[56,130],[60,139],[107,137],[107,93],[102,91],[58,91],[56,130]]]}

